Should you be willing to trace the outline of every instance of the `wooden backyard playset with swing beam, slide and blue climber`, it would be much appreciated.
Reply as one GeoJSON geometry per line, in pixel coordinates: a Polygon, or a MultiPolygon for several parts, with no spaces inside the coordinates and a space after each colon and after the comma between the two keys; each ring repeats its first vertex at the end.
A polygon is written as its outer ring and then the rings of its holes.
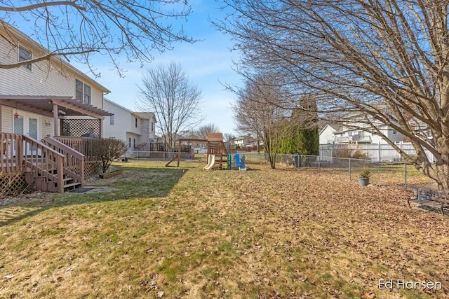
{"type": "MultiPolygon", "coordinates": [[[[180,138],[178,140],[179,144],[177,146],[178,152],[173,158],[168,161],[166,167],[170,165],[171,162],[177,160],[177,167],[180,167],[181,160],[181,147],[182,142],[203,142],[206,144],[206,158],[207,165],[203,167],[203,170],[210,170],[214,167],[215,163],[218,164],[218,169],[223,168],[223,163],[227,162],[227,169],[232,169],[232,155],[227,152],[225,143],[223,142],[223,134],[222,133],[209,133],[208,139],[191,139],[191,138],[180,138]],[[225,160],[226,159],[226,160],[225,160]]],[[[193,157],[193,154],[192,156],[193,157]]],[[[234,155],[234,165],[238,167],[239,170],[246,170],[245,166],[245,155],[240,155],[236,153],[234,155]]]]}

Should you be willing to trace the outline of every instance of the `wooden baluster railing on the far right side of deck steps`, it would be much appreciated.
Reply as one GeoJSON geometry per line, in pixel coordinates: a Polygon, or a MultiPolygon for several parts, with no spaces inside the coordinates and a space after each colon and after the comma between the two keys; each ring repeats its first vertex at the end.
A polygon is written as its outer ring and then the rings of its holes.
{"type": "Polygon", "coordinates": [[[52,137],[43,139],[45,144],[58,153],[64,155],[64,174],[72,177],[74,181],[84,184],[84,155],[75,151],[74,148],[63,144],[62,142],[52,137]]]}

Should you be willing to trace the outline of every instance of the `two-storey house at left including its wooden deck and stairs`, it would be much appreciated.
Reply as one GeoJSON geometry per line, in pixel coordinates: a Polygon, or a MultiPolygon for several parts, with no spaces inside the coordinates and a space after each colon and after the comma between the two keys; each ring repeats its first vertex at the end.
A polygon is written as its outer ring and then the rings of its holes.
{"type": "MultiPolygon", "coordinates": [[[[0,20],[0,64],[47,54],[0,20]]],[[[96,161],[91,160],[90,141],[79,137],[102,136],[103,119],[112,116],[103,110],[108,92],[58,57],[0,69],[0,141],[5,145],[0,147],[0,172],[24,175],[36,190],[64,192],[82,186],[84,174],[96,171],[96,161]]]]}

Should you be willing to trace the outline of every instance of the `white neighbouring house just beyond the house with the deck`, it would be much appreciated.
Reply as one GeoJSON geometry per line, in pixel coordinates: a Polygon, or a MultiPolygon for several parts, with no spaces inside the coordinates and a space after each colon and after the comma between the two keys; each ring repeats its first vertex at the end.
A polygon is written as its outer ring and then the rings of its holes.
{"type": "MultiPolygon", "coordinates": [[[[133,112],[109,99],[104,107],[114,113],[105,120],[105,137],[114,137],[126,142],[129,151],[135,151],[140,145],[147,147],[156,142],[156,117],[152,112],[133,112]]],[[[140,148],[142,149],[142,148],[140,148]]]]}

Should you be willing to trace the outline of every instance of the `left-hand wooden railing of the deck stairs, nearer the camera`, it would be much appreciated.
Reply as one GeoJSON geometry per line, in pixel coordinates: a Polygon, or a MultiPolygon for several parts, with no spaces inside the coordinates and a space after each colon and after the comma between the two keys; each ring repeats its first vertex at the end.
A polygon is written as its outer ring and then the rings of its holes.
{"type": "MultiPolygon", "coordinates": [[[[23,159],[25,166],[29,167],[32,172],[35,171],[36,174],[46,177],[48,181],[57,182],[58,193],[64,193],[64,178],[62,175],[58,174],[63,173],[65,156],[32,137],[22,135],[22,138],[25,141],[25,146],[20,146],[22,148],[19,148],[19,151],[22,152],[20,155],[25,157],[23,159]],[[34,151],[33,147],[35,146],[35,155],[27,155],[27,144],[29,144],[30,153],[31,151],[34,151]],[[38,155],[39,150],[41,151],[41,155],[38,155]],[[56,174],[54,173],[55,169],[56,174]]],[[[17,151],[18,150],[16,149],[16,156],[18,155],[17,151]]]]}

